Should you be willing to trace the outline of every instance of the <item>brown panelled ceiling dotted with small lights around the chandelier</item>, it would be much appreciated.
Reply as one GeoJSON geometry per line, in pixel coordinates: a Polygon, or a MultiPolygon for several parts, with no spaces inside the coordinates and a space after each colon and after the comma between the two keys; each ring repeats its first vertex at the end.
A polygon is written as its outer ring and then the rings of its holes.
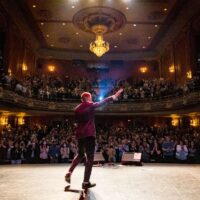
{"type": "Polygon", "coordinates": [[[185,1],[20,0],[19,5],[24,17],[33,26],[41,48],[48,51],[86,53],[93,57],[89,52],[89,44],[94,41],[95,35],[86,31],[84,26],[81,28],[77,25],[83,25],[85,18],[104,12],[114,16],[115,23],[122,20],[120,28],[104,36],[110,44],[108,55],[153,51],[183,2],[185,1]]]}

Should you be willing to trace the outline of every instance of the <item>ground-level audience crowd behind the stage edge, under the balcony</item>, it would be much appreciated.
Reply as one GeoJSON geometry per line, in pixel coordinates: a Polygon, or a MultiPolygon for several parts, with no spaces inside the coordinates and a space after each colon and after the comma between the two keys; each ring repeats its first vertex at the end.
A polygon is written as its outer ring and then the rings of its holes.
{"type": "MultiPolygon", "coordinates": [[[[69,163],[77,152],[74,125],[4,127],[0,163],[69,163]]],[[[124,152],[139,152],[143,162],[200,163],[200,128],[97,125],[96,152],[120,163],[124,152]]]]}

